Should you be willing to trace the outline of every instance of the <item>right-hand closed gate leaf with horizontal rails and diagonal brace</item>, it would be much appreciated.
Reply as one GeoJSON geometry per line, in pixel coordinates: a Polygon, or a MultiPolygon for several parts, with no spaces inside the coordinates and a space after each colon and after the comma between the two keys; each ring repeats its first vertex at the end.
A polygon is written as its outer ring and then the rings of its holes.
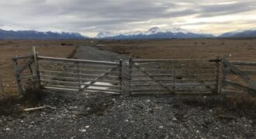
{"type": "Polygon", "coordinates": [[[218,93],[220,59],[130,59],[130,94],[218,93]]]}

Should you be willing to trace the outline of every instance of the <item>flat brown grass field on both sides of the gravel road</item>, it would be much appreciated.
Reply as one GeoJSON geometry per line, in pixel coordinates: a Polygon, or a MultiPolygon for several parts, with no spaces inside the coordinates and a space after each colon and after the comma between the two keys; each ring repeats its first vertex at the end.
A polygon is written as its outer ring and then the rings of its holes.
{"type": "Polygon", "coordinates": [[[2,40],[0,76],[5,93],[16,94],[13,56],[24,56],[36,46],[40,56],[69,57],[77,46],[105,45],[107,49],[143,59],[216,58],[256,61],[256,39],[164,39],[164,40],[2,40]]]}

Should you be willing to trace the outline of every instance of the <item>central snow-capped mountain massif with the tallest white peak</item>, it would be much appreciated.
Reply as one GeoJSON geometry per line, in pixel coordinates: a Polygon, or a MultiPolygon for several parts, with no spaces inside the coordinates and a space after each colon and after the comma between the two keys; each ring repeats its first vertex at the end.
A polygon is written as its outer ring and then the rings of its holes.
{"type": "Polygon", "coordinates": [[[158,27],[151,28],[145,32],[126,32],[123,34],[111,32],[99,32],[96,38],[99,39],[170,39],[170,38],[205,38],[214,37],[211,34],[201,34],[189,32],[181,28],[160,29],[158,27]]]}

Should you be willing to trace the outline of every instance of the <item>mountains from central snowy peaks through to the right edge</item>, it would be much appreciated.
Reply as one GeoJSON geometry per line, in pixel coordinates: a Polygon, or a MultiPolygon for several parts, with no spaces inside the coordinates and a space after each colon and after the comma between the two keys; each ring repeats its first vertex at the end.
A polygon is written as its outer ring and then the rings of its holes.
{"type": "Polygon", "coordinates": [[[171,39],[171,38],[254,38],[256,37],[256,29],[238,30],[234,32],[226,32],[220,36],[213,34],[190,32],[181,28],[159,29],[151,28],[146,32],[128,32],[123,34],[115,34],[111,32],[99,32],[96,36],[98,39],[171,39]]]}

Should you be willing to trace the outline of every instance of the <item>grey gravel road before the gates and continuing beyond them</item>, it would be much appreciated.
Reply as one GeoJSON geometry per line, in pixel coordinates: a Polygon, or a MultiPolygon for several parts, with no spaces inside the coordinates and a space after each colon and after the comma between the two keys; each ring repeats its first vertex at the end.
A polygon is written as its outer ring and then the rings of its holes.
{"type": "MultiPolygon", "coordinates": [[[[74,57],[127,59],[91,46],[74,57]]],[[[56,110],[1,116],[0,138],[256,138],[255,117],[227,109],[218,98],[49,92],[40,104],[56,110]]]]}

